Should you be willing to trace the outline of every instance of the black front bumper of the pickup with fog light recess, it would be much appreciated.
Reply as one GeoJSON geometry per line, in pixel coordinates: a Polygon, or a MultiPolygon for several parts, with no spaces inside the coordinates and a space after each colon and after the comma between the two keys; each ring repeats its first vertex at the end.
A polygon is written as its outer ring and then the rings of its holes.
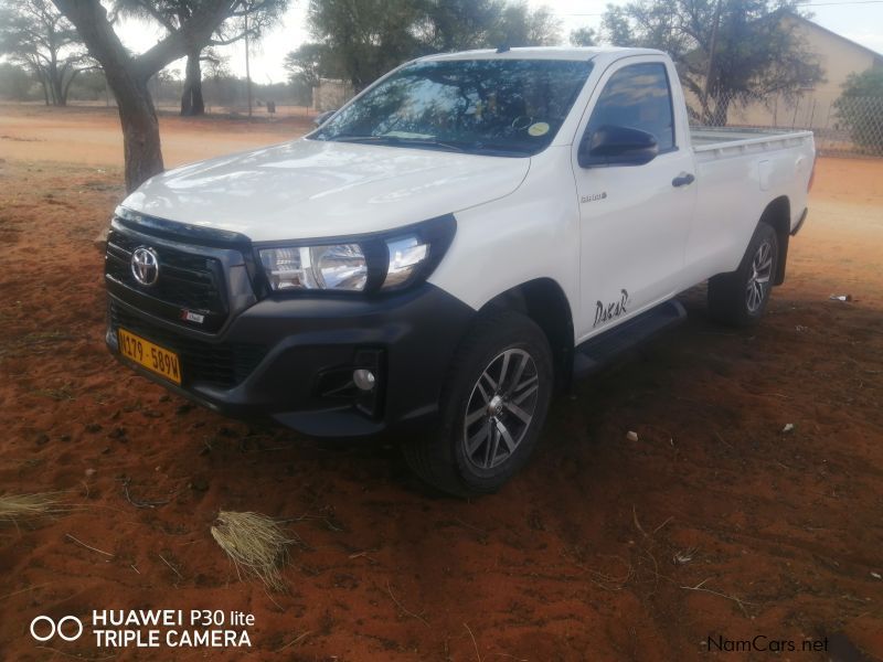
{"type": "MultiPolygon", "coordinates": [[[[120,296],[123,295],[123,296],[120,296]]],[[[376,299],[269,297],[236,313],[216,334],[155,317],[108,291],[107,344],[142,375],[223,414],[269,416],[322,437],[372,435],[425,424],[475,311],[423,284],[376,299]],[[125,328],[179,353],[182,384],[119,354],[125,328]],[[355,369],[376,376],[352,384],[355,369]]]]}

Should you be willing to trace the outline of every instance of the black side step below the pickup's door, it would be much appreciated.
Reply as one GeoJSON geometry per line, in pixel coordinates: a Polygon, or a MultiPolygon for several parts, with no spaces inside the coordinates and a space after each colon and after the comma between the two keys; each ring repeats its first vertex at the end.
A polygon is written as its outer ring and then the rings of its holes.
{"type": "Polygon", "coordinates": [[[687,319],[679,301],[670,300],[585,341],[574,352],[573,375],[584,377],[608,365],[616,356],[635,349],[660,331],[687,319]]]}

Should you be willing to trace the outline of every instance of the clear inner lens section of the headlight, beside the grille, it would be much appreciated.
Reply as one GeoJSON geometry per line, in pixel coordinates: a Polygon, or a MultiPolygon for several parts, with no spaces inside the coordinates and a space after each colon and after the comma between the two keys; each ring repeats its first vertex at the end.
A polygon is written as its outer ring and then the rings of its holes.
{"type": "Polygon", "coordinates": [[[260,261],[274,290],[362,291],[368,261],[359,244],[264,248],[260,261]]]}

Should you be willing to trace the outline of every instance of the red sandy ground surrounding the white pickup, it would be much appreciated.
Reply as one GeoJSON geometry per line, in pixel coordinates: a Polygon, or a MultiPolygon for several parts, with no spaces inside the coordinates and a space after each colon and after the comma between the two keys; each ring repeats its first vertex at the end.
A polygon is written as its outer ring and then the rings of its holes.
{"type": "MultiPolygon", "coordinates": [[[[883,658],[883,162],[819,161],[758,328],[715,327],[688,292],[688,324],[560,397],[529,468],[464,502],[394,450],[224,419],[121,369],[91,244],[123,193],[118,129],[28,113],[0,108],[0,491],[75,510],[0,522],[0,658],[242,654],[28,633],[110,608],[252,612],[262,660],[768,659],[705,652],[757,634],[883,658]],[[209,533],[222,509],[288,520],[287,592],[237,578],[209,533]]],[[[170,163],[279,135],[163,120],[170,163]]]]}

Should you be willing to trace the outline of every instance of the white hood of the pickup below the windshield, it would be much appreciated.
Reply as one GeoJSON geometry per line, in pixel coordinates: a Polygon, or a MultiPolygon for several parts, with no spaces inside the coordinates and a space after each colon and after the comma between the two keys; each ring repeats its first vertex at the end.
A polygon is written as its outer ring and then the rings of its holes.
{"type": "Polygon", "coordinates": [[[528,158],[299,139],[170,170],[123,206],[255,242],[392,229],[508,195],[528,158]]]}

